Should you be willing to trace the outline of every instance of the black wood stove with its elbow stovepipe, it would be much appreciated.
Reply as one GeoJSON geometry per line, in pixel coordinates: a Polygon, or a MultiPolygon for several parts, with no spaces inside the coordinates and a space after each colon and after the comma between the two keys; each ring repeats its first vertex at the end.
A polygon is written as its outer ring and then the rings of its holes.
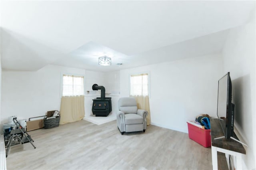
{"type": "Polygon", "coordinates": [[[100,97],[93,99],[92,113],[96,117],[107,117],[112,111],[111,97],[105,97],[105,87],[98,86],[97,84],[92,85],[92,90],[101,90],[100,97]]]}

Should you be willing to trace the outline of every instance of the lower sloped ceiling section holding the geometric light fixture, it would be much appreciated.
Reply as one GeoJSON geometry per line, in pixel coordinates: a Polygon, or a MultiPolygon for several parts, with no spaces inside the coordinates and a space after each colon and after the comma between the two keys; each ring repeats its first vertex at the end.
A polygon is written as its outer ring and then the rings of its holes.
{"type": "Polygon", "coordinates": [[[89,42],[72,51],[70,55],[56,60],[53,64],[97,71],[114,71],[188,57],[220,53],[228,32],[229,30],[224,30],[130,56],[114,51],[108,47],[104,47],[95,42],[89,42]],[[112,58],[111,66],[98,65],[98,57],[104,55],[112,58]],[[117,63],[123,63],[123,65],[116,65],[117,63]]]}

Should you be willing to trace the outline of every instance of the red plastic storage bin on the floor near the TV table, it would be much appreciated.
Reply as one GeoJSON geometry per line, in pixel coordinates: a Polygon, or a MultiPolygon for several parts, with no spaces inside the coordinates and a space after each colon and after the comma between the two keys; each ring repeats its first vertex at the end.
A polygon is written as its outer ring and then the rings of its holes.
{"type": "Polygon", "coordinates": [[[210,129],[203,129],[188,123],[188,137],[206,148],[211,146],[210,132],[210,129]]]}

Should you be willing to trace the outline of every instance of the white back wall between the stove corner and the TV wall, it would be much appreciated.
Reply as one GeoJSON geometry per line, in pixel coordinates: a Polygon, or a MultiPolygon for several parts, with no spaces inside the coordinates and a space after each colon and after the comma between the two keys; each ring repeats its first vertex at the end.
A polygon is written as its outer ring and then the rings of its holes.
{"type": "Polygon", "coordinates": [[[152,125],[188,132],[186,121],[204,113],[216,116],[220,55],[121,70],[121,97],[129,96],[129,74],[143,71],[150,71],[152,125]]]}

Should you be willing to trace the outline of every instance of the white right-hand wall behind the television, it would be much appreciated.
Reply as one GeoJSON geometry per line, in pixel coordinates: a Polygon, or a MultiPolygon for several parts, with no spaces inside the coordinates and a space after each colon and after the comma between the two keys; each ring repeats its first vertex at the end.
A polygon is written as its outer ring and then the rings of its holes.
{"type": "Polygon", "coordinates": [[[224,73],[230,71],[232,103],[235,104],[234,127],[245,146],[244,169],[255,169],[256,117],[255,117],[255,11],[250,22],[230,30],[223,48],[224,73]]]}

